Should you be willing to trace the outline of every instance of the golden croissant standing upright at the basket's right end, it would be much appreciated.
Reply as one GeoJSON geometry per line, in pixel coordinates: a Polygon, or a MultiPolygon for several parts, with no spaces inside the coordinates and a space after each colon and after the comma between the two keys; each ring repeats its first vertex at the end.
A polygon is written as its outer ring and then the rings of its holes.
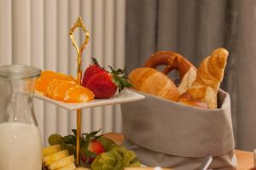
{"type": "MultiPolygon", "coordinates": [[[[199,99],[209,106],[210,109],[218,107],[217,94],[220,82],[224,77],[224,68],[229,52],[224,48],[214,50],[211,56],[201,62],[195,82],[186,91],[193,99],[199,99]]],[[[183,96],[178,99],[182,100],[183,96]]]]}

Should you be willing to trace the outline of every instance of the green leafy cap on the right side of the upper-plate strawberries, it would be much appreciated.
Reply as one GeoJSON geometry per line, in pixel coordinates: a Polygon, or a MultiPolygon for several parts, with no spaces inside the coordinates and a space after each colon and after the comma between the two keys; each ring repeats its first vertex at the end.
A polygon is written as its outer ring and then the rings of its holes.
{"type": "Polygon", "coordinates": [[[128,77],[126,77],[126,68],[124,70],[118,69],[114,70],[113,67],[109,66],[111,69],[111,75],[113,77],[113,82],[116,84],[116,86],[119,88],[119,93],[124,88],[131,88],[131,83],[128,81],[128,77]]]}

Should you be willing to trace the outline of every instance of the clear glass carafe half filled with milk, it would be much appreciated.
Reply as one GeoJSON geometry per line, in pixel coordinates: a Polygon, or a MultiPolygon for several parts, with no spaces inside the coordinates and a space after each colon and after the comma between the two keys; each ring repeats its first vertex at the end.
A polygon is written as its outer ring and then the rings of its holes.
{"type": "Polygon", "coordinates": [[[0,66],[0,170],[40,170],[41,136],[33,111],[32,66],[0,66]]]}

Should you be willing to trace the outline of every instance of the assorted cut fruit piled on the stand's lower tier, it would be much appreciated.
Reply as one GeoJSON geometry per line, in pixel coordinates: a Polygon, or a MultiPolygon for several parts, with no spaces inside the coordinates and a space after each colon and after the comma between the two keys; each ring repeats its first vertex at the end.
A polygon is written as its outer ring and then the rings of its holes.
{"type": "MultiPolygon", "coordinates": [[[[82,169],[124,169],[125,167],[141,167],[137,155],[132,150],[113,141],[106,135],[97,135],[100,130],[91,133],[82,133],[80,136],[80,154],[82,169]]],[[[54,133],[49,136],[49,146],[42,149],[43,169],[76,169],[74,164],[76,155],[76,135],[61,136],[54,133]]],[[[77,168],[77,169],[79,169],[77,168]]]]}

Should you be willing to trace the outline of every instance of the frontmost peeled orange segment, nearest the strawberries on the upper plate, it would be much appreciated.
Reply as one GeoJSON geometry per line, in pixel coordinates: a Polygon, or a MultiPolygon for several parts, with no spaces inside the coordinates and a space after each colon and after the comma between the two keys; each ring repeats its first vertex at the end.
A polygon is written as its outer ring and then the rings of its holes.
{"type": "Polygon", "coordinates": [[[64,101],[71,103],[88,102],[94,99],[94,94],[88,88],[83,86],[75,86],[68,88],[65,94],[64,101]]]}

